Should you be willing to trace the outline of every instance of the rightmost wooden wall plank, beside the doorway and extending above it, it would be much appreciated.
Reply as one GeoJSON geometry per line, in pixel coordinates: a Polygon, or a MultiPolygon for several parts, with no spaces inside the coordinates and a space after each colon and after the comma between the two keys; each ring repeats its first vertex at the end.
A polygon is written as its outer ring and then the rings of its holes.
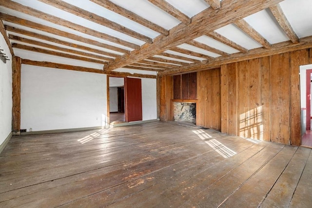
{"type": "Polygon", "coordinates": [[[309,64],[309,49],[291,52],[291,143],[301,145],[299,66],[309,64]]]}

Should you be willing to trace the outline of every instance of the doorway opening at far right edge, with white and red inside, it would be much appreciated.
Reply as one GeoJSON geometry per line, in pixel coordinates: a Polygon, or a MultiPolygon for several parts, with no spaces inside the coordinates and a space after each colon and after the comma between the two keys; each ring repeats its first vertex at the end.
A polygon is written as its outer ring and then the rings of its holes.
{"type": "Polygon", "coordinates": [[[301,146],[312,148],[312,64],[300,66],[301,146]]]}

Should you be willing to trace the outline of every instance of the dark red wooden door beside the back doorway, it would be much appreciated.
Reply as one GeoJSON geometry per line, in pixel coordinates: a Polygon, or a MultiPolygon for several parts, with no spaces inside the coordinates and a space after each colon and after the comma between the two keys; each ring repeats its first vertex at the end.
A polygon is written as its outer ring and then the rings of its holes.
{"type": "Polygon", "coordinates": [[[141,79],[125,78],[126,122],[142,120],[141,79]]]}

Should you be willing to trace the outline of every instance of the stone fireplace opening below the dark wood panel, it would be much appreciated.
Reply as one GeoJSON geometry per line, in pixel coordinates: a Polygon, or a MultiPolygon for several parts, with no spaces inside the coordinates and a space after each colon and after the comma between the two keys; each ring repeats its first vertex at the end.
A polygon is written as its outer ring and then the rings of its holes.
{"type": "Polygon", "coordinates": [[[191,122],[196,125],[196,103],[174,102],[174,121],[191,122]]]}

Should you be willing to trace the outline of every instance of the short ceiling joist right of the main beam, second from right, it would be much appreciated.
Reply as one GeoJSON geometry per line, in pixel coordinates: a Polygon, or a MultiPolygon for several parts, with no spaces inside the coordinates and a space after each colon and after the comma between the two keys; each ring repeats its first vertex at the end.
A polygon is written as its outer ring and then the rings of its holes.
{"type": "Polygon", "coordinates": [[[263,47],[266,49],[271,48],[271,44],[263,38],[260,33],[258,33],[250,24],[248,24],[244,19],[239,19],[234,22],[234,24],[239,27],[242,31],[244,31],[246,34],[248,34],[251,38],[253,38],[255,41],[260,43],[263,47]]]}

